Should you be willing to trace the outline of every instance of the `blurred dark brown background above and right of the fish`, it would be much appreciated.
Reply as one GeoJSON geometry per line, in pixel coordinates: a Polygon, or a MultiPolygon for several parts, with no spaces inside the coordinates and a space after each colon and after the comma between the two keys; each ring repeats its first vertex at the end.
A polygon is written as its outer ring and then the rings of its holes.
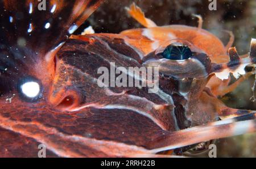
{"type": "MultiPolygon", "coordinates": [[[[84,27],[91,25],[96,32],[109,33],[141,28],[125,10],[133,2],[158,26],[197,26],[197,19],[192,14],[200,14],[204,19],[203,28],[220,37],[224,44],[228,42],[229,35],[222,30],[232,31],[235,35],[234,46],[241,55],[249,52],[251,37],[256,37],[255,0],[217,0],[216,11],[208,9],[210,2],[207,0],[107,0],[90,16],[84,27]]],[[[254,80],[251,77],[221,99],[233,108],[256,109],[256,102],[250,100],[254,80]]],[[[224,138],[217,140],[216,144],[218,157],[256,157],[256,134],[224,138]]]]}

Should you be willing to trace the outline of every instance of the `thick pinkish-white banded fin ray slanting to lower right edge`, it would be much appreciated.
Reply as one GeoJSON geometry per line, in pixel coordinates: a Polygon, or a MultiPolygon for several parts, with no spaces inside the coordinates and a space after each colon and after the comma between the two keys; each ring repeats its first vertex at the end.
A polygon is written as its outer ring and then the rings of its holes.
{"type": "Polygon", "coordinates": [[[195,143],[237,136],[245,133],[256,132],[255,113],[226,119],[217,122],[211,122],[206,125],[196,126],[180,130],[177,132],[162,132],[156,135],[154,141],[148,143],[152,153],[160,151],[177,149],[179,147],[193,145],[195,143]]]}

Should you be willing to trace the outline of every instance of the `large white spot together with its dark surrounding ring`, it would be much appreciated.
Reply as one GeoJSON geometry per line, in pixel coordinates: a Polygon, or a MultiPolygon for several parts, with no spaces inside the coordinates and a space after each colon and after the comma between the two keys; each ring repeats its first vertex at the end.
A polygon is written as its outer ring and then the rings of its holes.
{"type": "Polygon", "coordinates": [[[18,83],[19,96],[27,102],[42,98],[42,85],[36,78],[27,77],[18,83]]]}

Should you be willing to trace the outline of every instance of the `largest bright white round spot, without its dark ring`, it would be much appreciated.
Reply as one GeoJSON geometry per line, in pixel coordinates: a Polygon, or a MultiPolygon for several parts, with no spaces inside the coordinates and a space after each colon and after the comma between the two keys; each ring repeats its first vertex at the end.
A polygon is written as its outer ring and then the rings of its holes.
{"type": "Polygon", "coordinates": [[[35,98],[40,92],[40,86],[37,82],[26,82],[21,86],[22,92],[29,98],[35,98]]]}

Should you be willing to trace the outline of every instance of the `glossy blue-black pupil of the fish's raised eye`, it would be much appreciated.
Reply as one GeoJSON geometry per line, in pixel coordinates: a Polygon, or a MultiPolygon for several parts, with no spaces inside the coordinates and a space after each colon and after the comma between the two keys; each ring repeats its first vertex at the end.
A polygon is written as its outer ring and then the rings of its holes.
{"type": "Polygon", "coordinates": [[[192,52],[187,46],[168,45],[162,56],[168,60],[186,60],[192,56],[192,52]]]}

